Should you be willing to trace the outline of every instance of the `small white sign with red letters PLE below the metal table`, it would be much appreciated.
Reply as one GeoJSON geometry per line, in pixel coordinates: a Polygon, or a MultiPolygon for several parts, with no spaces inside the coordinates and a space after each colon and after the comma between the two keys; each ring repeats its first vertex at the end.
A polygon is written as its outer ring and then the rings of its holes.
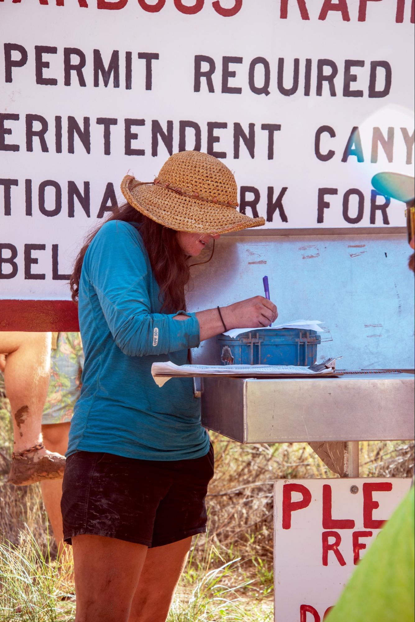
{"type": "Polygon", "coordinates": [[[275,622],[324,620],[410,486],[410,478],[276,481],[275,622]]]}

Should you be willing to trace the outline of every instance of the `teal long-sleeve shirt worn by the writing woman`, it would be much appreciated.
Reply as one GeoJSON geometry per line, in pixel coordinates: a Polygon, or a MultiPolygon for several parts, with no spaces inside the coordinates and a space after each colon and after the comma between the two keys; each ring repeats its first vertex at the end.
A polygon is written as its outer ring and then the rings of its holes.
{"type": "Polygon", "coordinates": [[[209,451],[191,378],[159,388],[155,361],[185,364],[199,346],[194,313],[160,313],[160,289],[139,230],[104,224],[84,256],[79,318],[85,363],[68,452],[106,452],[142,460],[185,460],[209,451]]]}

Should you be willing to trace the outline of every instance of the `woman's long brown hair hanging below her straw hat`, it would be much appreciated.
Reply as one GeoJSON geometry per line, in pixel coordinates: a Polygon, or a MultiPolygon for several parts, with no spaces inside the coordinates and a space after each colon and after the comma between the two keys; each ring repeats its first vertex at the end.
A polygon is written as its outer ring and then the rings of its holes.
{"type": "MultiPolygon", "coordinates": [[[[159,225],[135,210],[129,203],[124,203],[124,205],[114,208],[106,222],[110,220],[122,220],[127,223],[140,225],[140,235],[150,259],[155,280],[160,287],[160,301],[163,303],[162,309],[168,313],[174,313],[180,309],[186,310],[185,287],[189,282],[190,274],[186,255],[183,253],[177,238],[177,231],[159,225]]],[[[78,300],[81,269],[85,253],[94,236],[101,229],[101,226],[89,234],[76,258],[70,278],[72,300],[74,302],[78,300]]]]}

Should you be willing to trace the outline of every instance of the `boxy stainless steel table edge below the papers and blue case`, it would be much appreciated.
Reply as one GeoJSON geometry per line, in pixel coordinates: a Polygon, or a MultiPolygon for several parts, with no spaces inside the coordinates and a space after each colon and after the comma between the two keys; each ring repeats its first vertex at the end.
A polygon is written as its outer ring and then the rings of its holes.
{"type": "Polygon", "coordinates": [[[202,422],[241,443],[414,439],[413,374],[204,378],[202,422]]]}

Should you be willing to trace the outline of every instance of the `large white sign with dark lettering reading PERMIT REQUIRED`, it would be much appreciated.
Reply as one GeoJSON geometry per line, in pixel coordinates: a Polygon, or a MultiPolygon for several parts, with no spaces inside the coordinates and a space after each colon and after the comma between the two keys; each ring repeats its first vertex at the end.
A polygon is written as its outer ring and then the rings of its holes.
{"type": "Polygon", "coordinates": [[[172,152],[234,170],[268,228],[403,226],[409,0],[0,0],[3,298],[68,297],[81,239],[172,152]]]}

